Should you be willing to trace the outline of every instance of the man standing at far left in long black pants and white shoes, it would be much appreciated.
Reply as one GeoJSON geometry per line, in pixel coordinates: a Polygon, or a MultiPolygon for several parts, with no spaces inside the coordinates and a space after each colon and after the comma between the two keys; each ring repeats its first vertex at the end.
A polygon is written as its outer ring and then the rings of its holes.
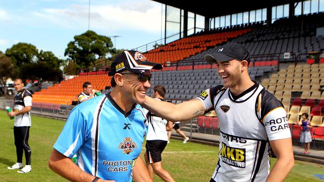
{"type": "Polygon", "coordinates": [[[29,91],[23,89],[21,79],[16,79],[13,82],[14,89],[17,91],[14,96],[14,110],[7,113],[9,117],[15,116],[13,135],[14,145],[16,146],[17,163],[8,167],[8,170],[16,170],[18,173],[28,173],[31,171],[30,156],[31,149],[28,145],[29,128],[31,126],[30,110],[32,95],[29,91]],[[25,152],[26,165],[22,168],[22,155],[25,152]]]}

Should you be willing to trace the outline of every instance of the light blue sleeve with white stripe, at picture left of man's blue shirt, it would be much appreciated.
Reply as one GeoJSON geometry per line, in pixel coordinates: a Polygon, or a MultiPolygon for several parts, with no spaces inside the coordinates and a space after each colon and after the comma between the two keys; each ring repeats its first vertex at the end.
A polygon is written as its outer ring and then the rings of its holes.
{"type": "Polygon", "coordinates": [[[71,111],[54,148],[66,157],[72,158],[86,140],[87,120],[78,107],[71,111]]]}

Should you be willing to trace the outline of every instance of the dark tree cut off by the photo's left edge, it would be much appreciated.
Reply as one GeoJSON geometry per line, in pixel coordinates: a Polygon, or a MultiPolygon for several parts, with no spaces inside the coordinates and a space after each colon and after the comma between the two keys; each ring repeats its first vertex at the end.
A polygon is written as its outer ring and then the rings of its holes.
{"type": "MultiPolygon", "coordinates": [[[[11,59],[0,52],[0,85],[5,86],[8,78],[13,78],[15,76],[15,70],[11,59]]],[[[4,88],[4,93],[6,93],[6,88],[4,88]]]]}

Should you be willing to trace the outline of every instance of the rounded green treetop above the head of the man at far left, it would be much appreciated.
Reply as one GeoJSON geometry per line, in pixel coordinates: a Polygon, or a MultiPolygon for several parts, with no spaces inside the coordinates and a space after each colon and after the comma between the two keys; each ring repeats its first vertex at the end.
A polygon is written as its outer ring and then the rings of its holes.
{"type": "Polygon", "coordinates": [[[38,49],[28,43],[17,43],[5,51],[5,55],[11,58],[15,68],[25,63],[37,62],[38,49]]]}

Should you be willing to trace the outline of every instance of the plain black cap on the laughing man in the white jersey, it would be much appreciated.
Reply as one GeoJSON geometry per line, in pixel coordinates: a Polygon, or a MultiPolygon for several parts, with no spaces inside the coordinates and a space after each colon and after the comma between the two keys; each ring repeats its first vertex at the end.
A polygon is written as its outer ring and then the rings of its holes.
{"type": "Polygon", "coordinates": [[[214,54],[207,54],[205,60],[208,63],[214,63],[216,61],[226,62],[233,59],[243,61],[246,60],[248,64],[250,63],[250,53],[249,51],[238,43],[228,43],[223,45],[214,54]]]}

